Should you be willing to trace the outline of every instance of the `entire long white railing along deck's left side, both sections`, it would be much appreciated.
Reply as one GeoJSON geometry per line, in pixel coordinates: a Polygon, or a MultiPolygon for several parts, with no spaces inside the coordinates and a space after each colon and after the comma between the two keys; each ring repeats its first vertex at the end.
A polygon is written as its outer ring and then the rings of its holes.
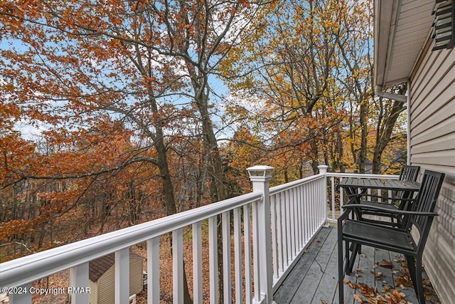
{"type": "MultiPolygon", "coordinates": [[[[146,241],[148,303],[160,303],[160,237],[171,233],[173,302],[183,303],[183,235],[189,231],[194,303],[218,303],[219,247],[223,251],[224,302],[272,303],[273,289],[326,222],[326,177],[336,177],[327,175],[326,168],[320,166],[321,174],[270,189],[270,176],[265,171],[262,176],[257,174],[262,167],[249,168],[255,171],[250,177],[250,194],[1,263],[0,285],[16,292],[9,294],[9,303],[31,303],[31,292],[17,291],[33,290],[34,281],[70,269],[72,288],[68,290],[87,290],[89,262],[115,253],[115,303],[128,303],[129,247],[146,241]],[[203,246],[203,238],[208,239],[208,248],[203,246]],[[203,261],[203,251],[208,251],[208,261],[203,261]],[[203,273],[203,263],[209,265],[208,275],[203,273]],[[203,298],[205,284],[209,285],[208,298],[203,298]]],[[[89,294],[73,293],[71,300],[88,303],[89,294]]]]}

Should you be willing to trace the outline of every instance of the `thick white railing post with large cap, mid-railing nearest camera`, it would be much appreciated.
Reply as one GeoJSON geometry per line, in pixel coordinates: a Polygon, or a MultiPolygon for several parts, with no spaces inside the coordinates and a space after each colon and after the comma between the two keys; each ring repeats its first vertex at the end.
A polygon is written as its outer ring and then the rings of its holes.
{"type": "MultiPolygon", "coordinates": [[[[257,204],[257,229],[259,263],[259,289],[264,297],[262,303],[273,302],[273,266],[272,266],[272,230],[270,218],[269,181],[272,178],[273,167],[254,166],[247,168],[252,182],[253,192],[262,192],[262,201],[257,204]]],[[[255,288],[257,288],[255,282],[255,288]]]]}

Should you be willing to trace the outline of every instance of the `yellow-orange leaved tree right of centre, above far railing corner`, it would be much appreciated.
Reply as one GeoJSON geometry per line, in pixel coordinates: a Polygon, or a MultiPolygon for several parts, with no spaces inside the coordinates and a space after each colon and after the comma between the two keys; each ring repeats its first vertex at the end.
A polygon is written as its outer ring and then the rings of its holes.
{"type": "Polygon", "coordinates": [[[329,92],[342,14],[336,1],[277,1],[262,11],[262,31],[245,36],[225,63],[227,75],[245,76],[231,88],[254,91],[264,103],[259,117],[276,148],[305,151],[315,173],[323,133],[337,124],[321,115],[338,107],[329,92]]]}

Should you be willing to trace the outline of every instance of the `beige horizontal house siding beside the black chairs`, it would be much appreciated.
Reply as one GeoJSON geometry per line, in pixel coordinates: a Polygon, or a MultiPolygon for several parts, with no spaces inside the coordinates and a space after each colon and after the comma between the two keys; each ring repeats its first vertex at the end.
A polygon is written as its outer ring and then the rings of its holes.
{"type": "Polygon", "coordinates": [[[442,303],[455,298],[455,50],[431,51],[410,79],[410,162],[444,172],[424,264],[442,303]]]}

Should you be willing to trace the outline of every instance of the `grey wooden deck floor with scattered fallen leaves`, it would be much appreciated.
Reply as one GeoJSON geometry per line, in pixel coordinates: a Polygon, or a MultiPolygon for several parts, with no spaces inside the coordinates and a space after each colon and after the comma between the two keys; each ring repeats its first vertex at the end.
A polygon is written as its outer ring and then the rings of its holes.
{"type": "MultiPolygon", "coordinates": [[[[368,246],[363,246],[362,250],[355,263],[353,276],[345,276],[345,283],[348,283],[344,285],[346,304],[360,303],[360,298],[368,303],[370,298],[365,296],[368,288],[377,288],[378,294],[385,298],[394,295],[405,297],[406,301],[401,303],[418,303],[412,283],[407,279],[402,255],[368,246]]],[[[274,293],[275,303],[338,303],[337,251],[336,227],[322,228],[274,293]]],[[[427,278],[425,273],[424,278],[427,278]]],[[[429,284],[429,281],[425,283],[429,284]]],[[[427,303],[439,303],[432,288],[425,286],[425,290],[428,292],[427,303]]]]}

